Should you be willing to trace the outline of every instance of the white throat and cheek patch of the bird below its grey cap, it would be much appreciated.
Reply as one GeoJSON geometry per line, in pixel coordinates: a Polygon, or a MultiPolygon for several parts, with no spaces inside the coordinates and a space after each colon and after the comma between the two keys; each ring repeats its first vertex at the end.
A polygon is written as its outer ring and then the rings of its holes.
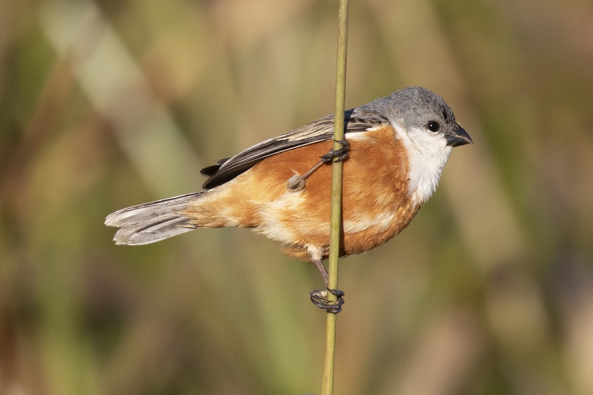
{"type": "Polygon", "coordinates": [[[440,134],[431,134],[419,129],[406,132],[395,123],[393,127],[396,137],[404,144],[408,155],[409,194],[416,203],[425,203],[436,190],[452,147],[447,145],[445,138],[440,134]]]}

